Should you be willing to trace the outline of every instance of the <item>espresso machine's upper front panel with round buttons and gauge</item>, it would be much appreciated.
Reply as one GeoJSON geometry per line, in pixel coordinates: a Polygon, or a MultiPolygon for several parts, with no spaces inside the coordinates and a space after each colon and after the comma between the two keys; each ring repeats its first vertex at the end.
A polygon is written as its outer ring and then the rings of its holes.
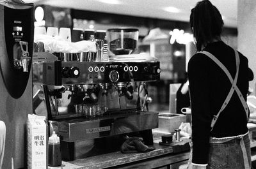
{"type": "Polygon", "coordinates": [[[160,80],[159,62],[34,62],[34,84],[99,84],[160,80]],[[49,76],[51,75],[51,77],[49,76]]]}

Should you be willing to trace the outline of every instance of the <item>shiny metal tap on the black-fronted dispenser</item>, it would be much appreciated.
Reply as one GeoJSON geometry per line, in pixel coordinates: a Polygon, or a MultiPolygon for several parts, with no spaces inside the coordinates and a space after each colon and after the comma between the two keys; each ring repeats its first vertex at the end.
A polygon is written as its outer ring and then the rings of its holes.
{"type": "Polygon", "coordinates": [[[20,57],[20,66],[22,66],[24,72],[28,72],[28,66],[30,62],[28,52],[28,41],[20,41],[20,48],[22,50],[22,57],[20,57]],[[25,50],[23,47],[26,47],[25,50]]]}

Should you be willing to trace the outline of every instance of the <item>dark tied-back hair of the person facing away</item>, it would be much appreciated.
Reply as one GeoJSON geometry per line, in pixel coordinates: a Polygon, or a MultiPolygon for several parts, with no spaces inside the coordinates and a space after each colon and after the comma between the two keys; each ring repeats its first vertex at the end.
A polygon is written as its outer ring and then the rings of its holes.
{"type": "Polygon", "coordinates": [[[220,11],[209,0],[200,1],[191,10],[190,27],[195,38],[196,49],[202,50],[213,40],[220,39],[223,20],[220,11]]]}

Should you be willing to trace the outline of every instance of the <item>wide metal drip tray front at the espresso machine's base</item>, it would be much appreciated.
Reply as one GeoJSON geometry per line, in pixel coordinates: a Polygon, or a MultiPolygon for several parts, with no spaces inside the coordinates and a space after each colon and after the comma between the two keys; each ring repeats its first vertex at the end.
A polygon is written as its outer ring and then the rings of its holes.
{"type": "Polygon", "coordinates": [[[92,138],[120,135],[158,127],[157,112],[134,111],[129,113],[103,115],[94,118],[56,119],[49,121],[60,139],[77,142],[92,138]]]}

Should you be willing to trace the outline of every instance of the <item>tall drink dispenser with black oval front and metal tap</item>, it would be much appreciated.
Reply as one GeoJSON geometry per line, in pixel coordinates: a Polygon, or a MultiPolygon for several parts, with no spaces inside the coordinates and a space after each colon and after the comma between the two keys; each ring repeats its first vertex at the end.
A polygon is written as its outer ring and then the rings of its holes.
{"type": "Polygon", "coordinates": [[[32,114],[34,4],[0,1],[0,168],[26,166],[26,121],[32,114]]]}

